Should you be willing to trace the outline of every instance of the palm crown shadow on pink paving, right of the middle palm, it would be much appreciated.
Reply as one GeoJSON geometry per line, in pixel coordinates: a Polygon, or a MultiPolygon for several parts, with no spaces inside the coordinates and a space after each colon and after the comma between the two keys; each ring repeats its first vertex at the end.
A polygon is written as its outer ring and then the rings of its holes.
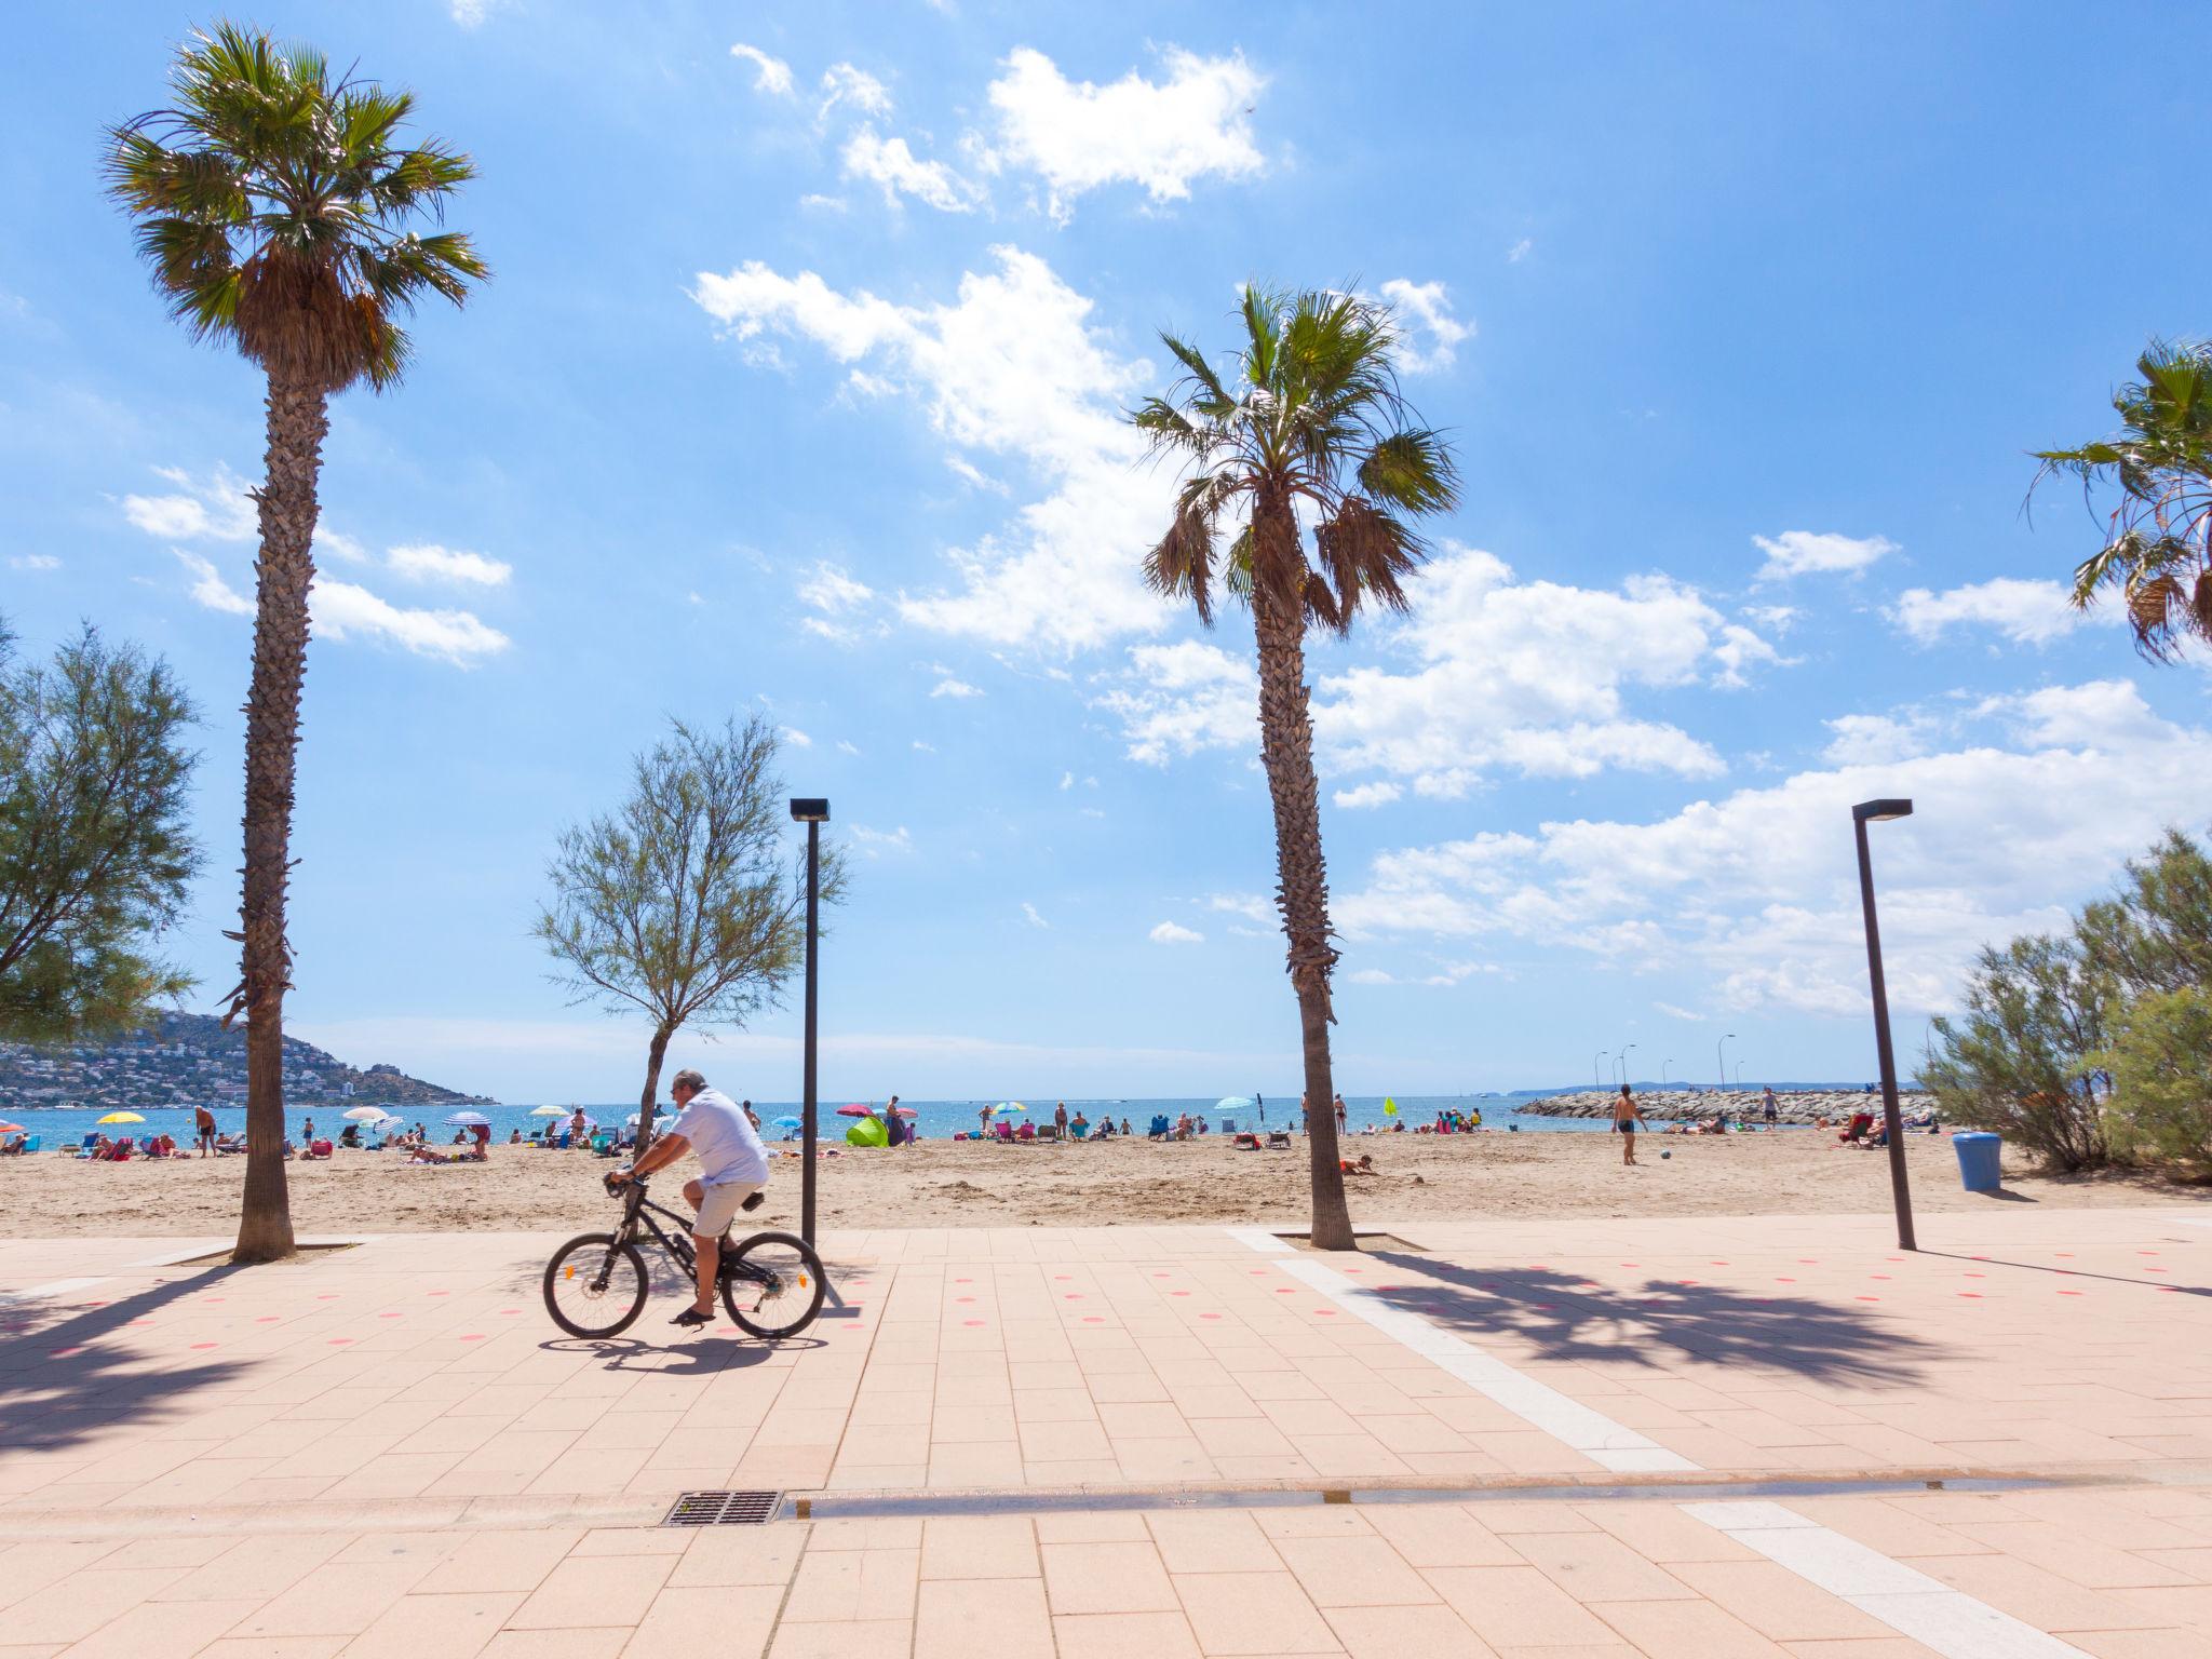
{"type": "Polygon", "coordinates": [[[1471,1270],[1374,1252],[1438,1285],[1383,1285],[1391,1307],[1418,1312],[1469,1340],[1515,1336],[1544,1360],[1670,1365],[1668,1349],[1734,1371],[1792,1371],[1820,1383],[1916,1383],[1944,1349],[1849,1307],[1807,1296],[1747,1296],[1721,1285],[1657,1279],[1632,1292],[1548,1267],[1471,1270]]]}

